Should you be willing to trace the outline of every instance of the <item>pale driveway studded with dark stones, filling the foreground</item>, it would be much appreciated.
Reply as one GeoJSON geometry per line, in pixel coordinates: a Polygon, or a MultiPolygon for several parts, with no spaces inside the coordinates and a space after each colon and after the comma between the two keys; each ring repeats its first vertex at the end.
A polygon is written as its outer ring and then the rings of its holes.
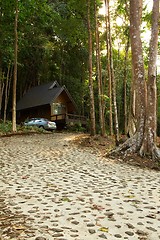
{"type": "Polygon", "coordinates": [[[102,158],[73,138],[0,139],[0,239],[160,239],[160,172],[102,158]]]}

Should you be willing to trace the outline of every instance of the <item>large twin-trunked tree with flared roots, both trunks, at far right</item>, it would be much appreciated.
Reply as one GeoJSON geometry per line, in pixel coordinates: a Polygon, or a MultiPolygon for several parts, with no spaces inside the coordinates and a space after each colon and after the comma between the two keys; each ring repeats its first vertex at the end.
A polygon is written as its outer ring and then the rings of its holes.
{"type": "MultiPolygon", "coordinates": [[[[141,1],[141,0],[139,0],[141,1]]],[[[142,42],[140,38],[139,2],[130,0],[130,34],[136,91],[136,132],[113,153],[139,153],[160,161],[156,146],[156,57],[158,45],[159,0],[153,1],[152,31],[149,51],[148,82],[145,82],[142,42]]]]}

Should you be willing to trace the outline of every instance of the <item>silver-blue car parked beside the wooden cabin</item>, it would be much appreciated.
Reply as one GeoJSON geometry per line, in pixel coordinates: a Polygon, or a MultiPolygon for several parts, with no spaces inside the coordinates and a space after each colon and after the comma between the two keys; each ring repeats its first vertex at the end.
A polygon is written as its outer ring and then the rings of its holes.
{"type": "Polygon", "coordinates": [[[25,126],[36,126],[45,130],[56,130],[57,126],[55,122],[51,122],[46,118],[30,118],[24,122],[25,126]]]}

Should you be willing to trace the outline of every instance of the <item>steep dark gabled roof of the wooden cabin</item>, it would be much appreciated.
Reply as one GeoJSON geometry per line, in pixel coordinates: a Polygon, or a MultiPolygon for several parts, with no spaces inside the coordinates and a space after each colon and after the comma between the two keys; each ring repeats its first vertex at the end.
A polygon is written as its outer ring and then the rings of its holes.
{"type": "Polygon", "coordinates": [[[22,99],[17,102],[17,110],[42,106],[54,102],[54,100],[65,91],[69,99],[75,105],[66,87],[61,87],[56,81],[31,88],[22,99]]]}

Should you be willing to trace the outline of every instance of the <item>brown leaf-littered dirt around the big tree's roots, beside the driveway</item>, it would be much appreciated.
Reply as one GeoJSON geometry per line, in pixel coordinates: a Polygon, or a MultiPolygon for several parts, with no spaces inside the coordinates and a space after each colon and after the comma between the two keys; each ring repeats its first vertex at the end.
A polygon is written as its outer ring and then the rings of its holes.
{"type": "MultiPolygon", "coordinates": [[[[122,136],[123,139],[123,136],[122,136]]],[[[96,135],[91,137],[90,135],[82,135],[76,138],[76,144],[79,144],[80,147],[91,148],[92,151],[97,152],[101,156],[107,157],[109,151],[114,148],[115,141],[113,137],[101,137],[96,135]]],[[[158,138],[158,146],[160,146],[160,138],[158,138]]],[[[116,156],[110,157],[111,159],[117,159],[122,163],[127,163],[131,165],[135,165],[141,168],[149,168],[160,171],[160,163],[153,161],[148,158],[141,158],[138,154],[130,155],[130,156],[116,156]]]]}

